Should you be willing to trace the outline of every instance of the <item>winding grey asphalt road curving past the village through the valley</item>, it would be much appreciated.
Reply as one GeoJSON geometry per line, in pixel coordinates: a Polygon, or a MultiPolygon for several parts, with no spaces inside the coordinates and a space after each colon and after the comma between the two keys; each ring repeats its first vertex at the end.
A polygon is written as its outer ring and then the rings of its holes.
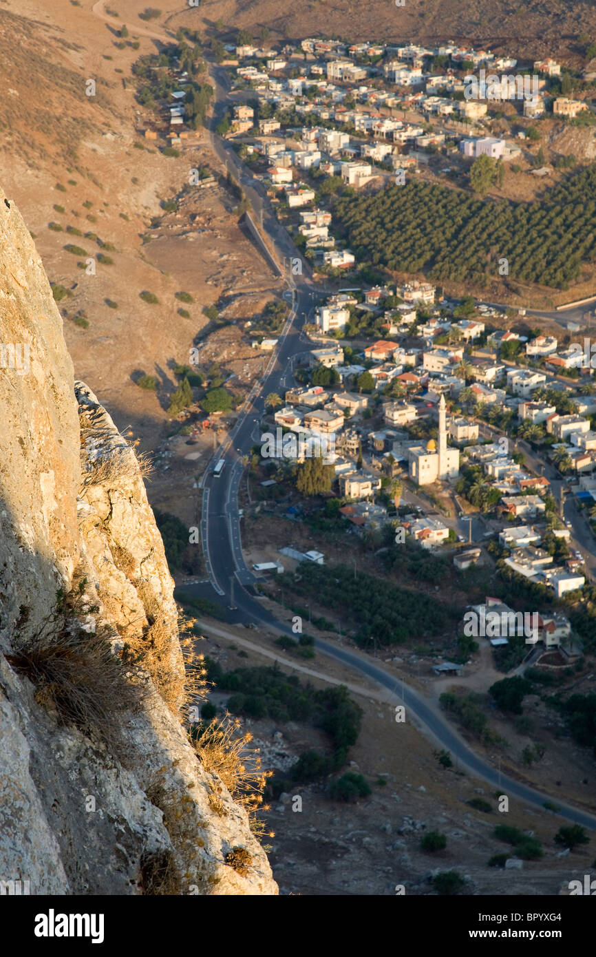
{"type": "MultiPolygon", "coordinates": [[[[120,27],[117,21],[105,14],[104,6],[105,0],[99,0],[99,3],[93,7],[93,13],[99,19],[120,27]]],[[[166,39],[164,33],[143,28],[137,28],[136,32],[154,39],[166,39]]],[[[225,71],[213,67],[211,75],[215,87],[211,123],[211,138],[215,151],[222,162],[233,170],[236,181],[240,183],[248,196],[256,218],[260,222],[261,231],[267,235],[268,245],[276,250],[280,266],[285,261],[285,257],[299,257],[304,263],[287,232],[277,223],[264,188],[252,178],[250,169],[238,159],[232,146],[213,132],[215,124],[219,122],[227,108],[229,86],[225,71]]],[[[282,267],[280,271],[285,270],[282,267]]],[[[314,303],[320,296],[320,290],[308,277],[306,263],[304,263],[303,275],[295,277],[290,269],[288,269],[288,275],[288,286],[292,290],[293,297],[291,314],[279,336],[276,352],[259,384],[260,388],[254,389],[254,395],[252,393],[249,396],[229,440],[214,456],[204,476],[201,532],[211,584],[220,599],[231,607],[233,619],[244,624],[254,623],[295,637],[287,625],[267,612],[258,599],[249,593],[249,590],[253,590],[254,575],[246,567],[242,555],[237,505],[238,484],[244,472],[242,459],[250,453],[254,441],[258,440],[260,422],[264,414],[264,396],[272,391],[282,392],[289,385],[286,377],[289,372],[291,373],[292,359],[298,352],[304,350],[304,342],[300,334],[301,326],[310,316],[314,303]],[[226,464],[221,476],[215,477],[212,464],[219,458],[224,458],[226,464]]],[[[536,311],[536,314],[540,313],[536,311]]],[[[388,690],[397,704],[405,706],[407,721],[410,720],[419,726],[434,744],[449,750],[460,767],[466,768],[471,774],[487,781],[497,790],[507,793],[510,800],[517,799],[521,803],[541,808],[544,801],[551,798],[551,795],[541,794],[500,774],[496,768],[475,754],[457,731],[445,721],[432,702],[425,701],[417,691],[404,682],[394,679],[377,664],[356,652],[321,639],[316,640],[316,647],[321,654],[341,661],[348,668],[360,672],[388,690]]],[[[560,801],[557,803],[560,806],[558,812],[560,816],[590,830],[596,829],[595,815],[564,805],[560,801]]]]}

